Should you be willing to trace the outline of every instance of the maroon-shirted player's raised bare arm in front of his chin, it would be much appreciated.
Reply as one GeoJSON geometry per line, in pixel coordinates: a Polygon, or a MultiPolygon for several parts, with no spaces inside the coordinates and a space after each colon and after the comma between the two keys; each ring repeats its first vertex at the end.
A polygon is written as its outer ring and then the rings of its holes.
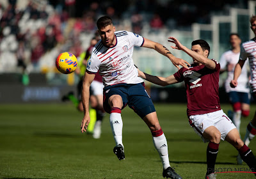
{"type": "Polygon", "coordinates": [[[201,54],[198,54],[197,52],[191,51],[190,49],[188,49],[187,47],[182,45],[179,42],[179,40],[177,40],[176,38],[174,38],[172,36],[170,36],[169,39],[170,40],[168,40],[168,42],[172,42],[176,45],[176,46],[171,46],[173,49],[184,51],[184,52],[186,52],[186,54],[191,56],[191,58],[196,59],[196,61],[199,61],[200,63],[204,64],[207,68],[215,69],[216,63],[214,61],[212,61],[211,59],[206,58],[205,56],[202,56],[201,54]]]}

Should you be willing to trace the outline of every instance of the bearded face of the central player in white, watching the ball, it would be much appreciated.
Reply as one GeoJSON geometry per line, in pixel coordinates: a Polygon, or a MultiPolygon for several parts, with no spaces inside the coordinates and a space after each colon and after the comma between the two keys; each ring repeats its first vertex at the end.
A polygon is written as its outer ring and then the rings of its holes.
{"type": "Polygon", "coordinates": [[[111,47],[112,45],[115,45],[115,31],[116,28],[115,26],[113,26],[113,24],[108,25],[102,29],[99,29],[100,38],[105,46],[111,47]]]}

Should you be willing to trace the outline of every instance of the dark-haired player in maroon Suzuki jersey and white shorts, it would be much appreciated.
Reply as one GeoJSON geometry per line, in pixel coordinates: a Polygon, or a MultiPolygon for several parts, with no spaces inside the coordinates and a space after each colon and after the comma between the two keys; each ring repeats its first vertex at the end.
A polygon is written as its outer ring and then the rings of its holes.
{"type": "Polygon", "coordinates": [[[214,166],[218,154],[220,140],[228,141],[241,154],[242,159],[252,171],[256,169],[256,159],[246,144],[240,139],[236,126],[223,113],[219,99],[220,64],[215,59],[209,59],[210,47],[204,40],[191,43],[191,50],[182,45],[176,38],[170,37],[169,42],[175,43],[173,49],[186,52],[193,58],[193,65],[181,68],[169,77],[156,77],[139,72],[139,77],[147,81],[166,86],[177,82],[185,82],[189,124],[207,146],[206,179],[215,179],[214,166]]]}

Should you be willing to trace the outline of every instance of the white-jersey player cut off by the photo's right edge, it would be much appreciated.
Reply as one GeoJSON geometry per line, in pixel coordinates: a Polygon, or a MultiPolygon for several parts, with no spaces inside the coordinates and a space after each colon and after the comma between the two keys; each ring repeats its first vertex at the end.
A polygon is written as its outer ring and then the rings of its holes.
{"type": "MultiPolygon", "coordinates": [[[[241,45],[239,61],[235,67],[234,79],[230,81],[230,86],[232,88],[236,88],[238,86],[239,82],[237,79],[241,74],[241,71],[242,71],[241,69],[243,68],[246,59],[249,59],[250,74],[251,74],[250,87],[252,90],[252,97],[254,98],[254,100],[256,100],[256,16],[255,15],[253,15],[250,18],[250,23],[251,23],[251,29],[255,37],[252,40],[244,42],[241,45]]],[[[256,111],[252,121],[250,121],[250,123],[247,125],[246,134],[244,136],[244,143],[248,145],[250,141],[253,139],[253,137],[255,136],[255,134],[256,134],[256,111]]]]}

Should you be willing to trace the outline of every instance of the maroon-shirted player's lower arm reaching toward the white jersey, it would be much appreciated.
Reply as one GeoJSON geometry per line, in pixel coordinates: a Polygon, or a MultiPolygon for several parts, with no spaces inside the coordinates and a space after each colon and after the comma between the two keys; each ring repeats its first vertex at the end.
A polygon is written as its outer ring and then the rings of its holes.
{"type": "Polygon", "coordinates": [[[175,79],[174,75],[170,75],[169,77],[157,77],[157,76],[146,74],[145,72],[141,72],[139,69],[138,69],[138,76],[149,82],[158,84],[160,86],[167,86],[169,84],[174,84],[178,82],[175,79]]]}

